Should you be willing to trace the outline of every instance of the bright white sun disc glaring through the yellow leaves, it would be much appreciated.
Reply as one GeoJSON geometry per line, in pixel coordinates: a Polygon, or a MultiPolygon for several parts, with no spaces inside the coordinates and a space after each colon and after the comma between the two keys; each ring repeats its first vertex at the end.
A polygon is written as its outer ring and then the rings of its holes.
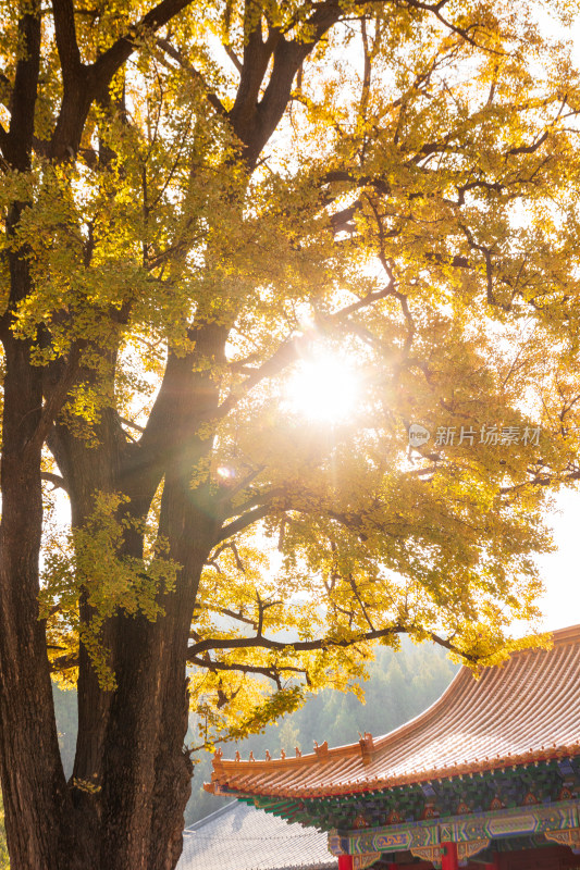
{"type": "Polygon", "coordinates": [[[285,405],[295,414],[320,423],[344,423],[356,409],[360,381],[343,358],[318,355],[298,363],[286,384],[285,405]]]}

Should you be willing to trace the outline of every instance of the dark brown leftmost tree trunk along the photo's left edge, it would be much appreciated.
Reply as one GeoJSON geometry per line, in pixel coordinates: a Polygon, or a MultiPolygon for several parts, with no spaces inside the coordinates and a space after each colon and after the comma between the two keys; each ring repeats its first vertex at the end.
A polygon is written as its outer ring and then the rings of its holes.
{"type": "MultiPolygon", "coordinates": [[[[22,295],[27,270],[15,258],[22,295]]],[[[42,526],[40,371],[28,343],[4,336],[0,526],[0,773],[13,870],[70,867],[70,801],[62,770],[46,648],[38,619],[42,526]],[[62,855],[69,857],[61,860],[62,855]]]]}

